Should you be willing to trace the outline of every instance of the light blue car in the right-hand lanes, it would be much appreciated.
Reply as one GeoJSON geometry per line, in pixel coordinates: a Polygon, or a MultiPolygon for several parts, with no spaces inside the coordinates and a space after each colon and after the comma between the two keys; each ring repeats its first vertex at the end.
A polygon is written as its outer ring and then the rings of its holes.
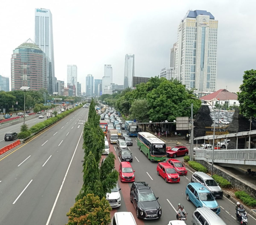
{"type": "Polygon", "coordinates": [[[217,215],[220,213],[220,206],[212,193],[199,183],[189,183],[186,187],[187,200],[198,207],[210,208],[217,215]]]}

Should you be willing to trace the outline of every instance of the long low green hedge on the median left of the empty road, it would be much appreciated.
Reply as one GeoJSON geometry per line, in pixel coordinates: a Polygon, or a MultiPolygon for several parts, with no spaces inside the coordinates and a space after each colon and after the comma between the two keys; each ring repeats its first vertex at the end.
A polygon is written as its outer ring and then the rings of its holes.
{"type": "Polygon", "coordinates": [[[61,114],[58,114],[57,116],[49,118],[43,122],[39,122],[39,123],[35,124],[34,126],[30,127],[27,131],[19,132],[18,138],[25,139],[25,138],[29,137],[31,134],[35,134],[36,132],[44,129],[45,127],[50,126],[51,124],[57,122],[58,120],[67,116],[68,114],[74,112],[75,110],[80,109],[81,107],[83,107],[83,105],[76,106],[71,110],[67,110],[61,114]]]}

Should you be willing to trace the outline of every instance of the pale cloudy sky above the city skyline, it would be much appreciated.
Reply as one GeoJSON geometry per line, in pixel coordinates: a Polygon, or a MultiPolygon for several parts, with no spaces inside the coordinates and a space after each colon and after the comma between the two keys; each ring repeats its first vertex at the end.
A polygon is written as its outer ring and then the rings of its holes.
{"type": "Polygon", "coordinates": [[[13,50],[34,40],[35,9],[53,16],[55,77],[67,82],[67,65],[77,65],[77,81],[102,79],[104,64],[123,85],[125,54],[135,55],[135,76],[158,76],[169,68],[170,48],[188,10],[211,12],[218,27],[217,90],[239,91],[246,70],[255,68],[254,0],[13,0],[0,2],[0,74],[11,78],[13,50]]]}

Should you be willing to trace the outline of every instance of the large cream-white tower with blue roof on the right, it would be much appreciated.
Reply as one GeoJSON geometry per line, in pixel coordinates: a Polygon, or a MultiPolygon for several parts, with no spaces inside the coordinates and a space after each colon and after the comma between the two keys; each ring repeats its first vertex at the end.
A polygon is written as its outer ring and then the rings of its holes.
{"type": "Polygon", "coordinates": [[[174,72],[188,89],[215,90],[217,37],[218,21],[210,12],[188,11],[180,22],[174,72]]]}

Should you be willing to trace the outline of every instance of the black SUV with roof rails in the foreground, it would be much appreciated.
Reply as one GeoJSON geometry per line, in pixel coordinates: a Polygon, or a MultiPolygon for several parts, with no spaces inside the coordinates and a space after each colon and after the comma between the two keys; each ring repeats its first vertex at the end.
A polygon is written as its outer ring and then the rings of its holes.
{"type": "Polygon", "coordinates": [[[140,219],[158,219],[162,209],[153,190],[145,181],[134,182],[130,191],[130,201],[133,203],[136,216],[140,219]]]}

